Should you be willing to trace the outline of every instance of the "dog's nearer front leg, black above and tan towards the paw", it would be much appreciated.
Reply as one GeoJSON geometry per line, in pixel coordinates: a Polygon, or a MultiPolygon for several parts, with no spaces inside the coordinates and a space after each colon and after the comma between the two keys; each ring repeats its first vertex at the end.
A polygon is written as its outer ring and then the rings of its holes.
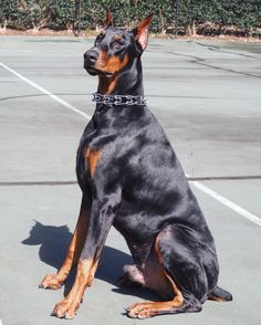
{"type": "Polygon", "coordinates": [[[105,196],[103,200],[93,200],[87,238],[79,260],[75,282],[67,296],[55,305],[52,315],[60,318],[73,318],[75,316],[84,291],[93,281],[104,242],[119,202],[121,195],[118,192],[105,196]]]}

